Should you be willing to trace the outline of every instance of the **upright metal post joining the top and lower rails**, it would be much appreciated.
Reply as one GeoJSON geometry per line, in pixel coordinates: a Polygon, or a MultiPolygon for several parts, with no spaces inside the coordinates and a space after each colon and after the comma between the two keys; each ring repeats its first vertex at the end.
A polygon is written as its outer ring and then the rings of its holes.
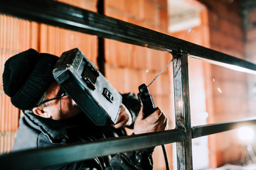
{"type": "Polygon", "coordinates": [[[184,130],[185,140],[177,142],[177,168],[193,169],[192,131],[188,87],[188,54],[173,52],[174,57],[174,101],[176,128],[184,130]]]}

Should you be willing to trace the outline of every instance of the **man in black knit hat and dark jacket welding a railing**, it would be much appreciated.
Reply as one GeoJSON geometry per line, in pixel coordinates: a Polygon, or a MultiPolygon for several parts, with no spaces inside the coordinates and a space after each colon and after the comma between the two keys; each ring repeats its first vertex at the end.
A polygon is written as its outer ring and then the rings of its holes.
{"type": "MultiPolygon", "coordinates": [[[[57,60],[58,57],[54,55],[39,54],[29,49],[14,55],[4,65],[4,91],[11,97],[11,103],[24,113],[14,142],[14,151],[123,136],[127,135],[124,126],[134,127],[134,134],[166,129],[168,120],[159,108],[147,118],[142,118],[140,104],[134,94],[122,95],[116,125],[94,125],[53,79],[53,67],[57,60]]],[[[48,169],[147,170],[152,169],[153,149],[138,149],[115,156],[51,166],[48,169]]]]}

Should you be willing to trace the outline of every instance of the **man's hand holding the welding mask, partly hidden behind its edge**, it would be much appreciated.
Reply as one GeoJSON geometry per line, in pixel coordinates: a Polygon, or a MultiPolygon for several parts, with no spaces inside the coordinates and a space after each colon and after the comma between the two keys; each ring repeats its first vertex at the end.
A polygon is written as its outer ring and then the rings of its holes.
{"type": "Polygon", "coordinates": [[[114,128],[122,128],[125,125],[131,125],[132,124],[132,115],[129,113],[128,109],[122,104],[120,108],[120,112],[117,118],[117,123],[114,126],[114,128]]]}

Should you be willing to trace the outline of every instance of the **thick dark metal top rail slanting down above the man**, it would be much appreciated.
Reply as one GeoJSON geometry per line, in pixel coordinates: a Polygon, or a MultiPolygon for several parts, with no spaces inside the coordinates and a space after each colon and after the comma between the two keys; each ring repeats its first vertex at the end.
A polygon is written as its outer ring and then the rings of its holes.
{"type": "Polygon", "coordinates": [[[156,50],[183,52],[196,59],[256,74],[254,63],[58,1],[1,0],[0,13],[156,50]]]}

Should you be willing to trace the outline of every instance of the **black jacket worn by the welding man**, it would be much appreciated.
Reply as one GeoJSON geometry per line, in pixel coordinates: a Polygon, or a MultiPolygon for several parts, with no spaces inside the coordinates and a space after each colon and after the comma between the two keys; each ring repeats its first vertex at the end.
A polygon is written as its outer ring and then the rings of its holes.
{"type": "MultiPolygon", "coordinates": [[[[124,105],[132,113],[132,118],[139,113],[140,105],[133,94],[124,94],[124,105]]],[[[127,135],[124,128],[115,129],[111,125],[99,127],[94,125],[85,115],[80,113],[68,120],[51,120],[24,111],[14,141],[13,151],[68,145],[74,142],[95,141],[108,137],[127,135]]],[[[138,149],[107,157],[95,157],[82,162],[74,162],[47,169],[152,169],[151,154],[153,148],[138,149]]]]}

